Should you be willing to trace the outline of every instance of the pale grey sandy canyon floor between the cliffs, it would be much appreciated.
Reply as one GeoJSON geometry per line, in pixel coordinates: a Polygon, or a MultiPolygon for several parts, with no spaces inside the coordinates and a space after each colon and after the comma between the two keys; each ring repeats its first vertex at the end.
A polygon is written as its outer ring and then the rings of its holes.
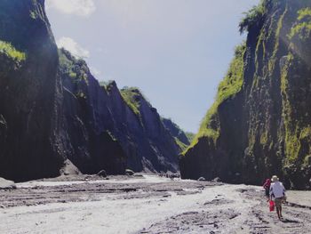
{"type": "Polygon", "coordinates": [[[283,222],[256,186],[152,175],[26,182],[0,190],[0,233],[310,233],[311,192],[289,191],[283,222]]]}

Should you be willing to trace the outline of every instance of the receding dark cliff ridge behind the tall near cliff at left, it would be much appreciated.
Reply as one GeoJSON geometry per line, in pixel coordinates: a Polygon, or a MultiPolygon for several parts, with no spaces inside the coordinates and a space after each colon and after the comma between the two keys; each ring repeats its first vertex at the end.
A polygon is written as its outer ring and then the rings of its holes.
{"type": "Polygon", "coordinates": [[[82,172],[122,173],[125,167],[136,172],[178,170],[179,148],[138,89],[120,92],[115,82],[100,86],[86,63],[63,49],[60,76],[69,159],[82,172]]]}

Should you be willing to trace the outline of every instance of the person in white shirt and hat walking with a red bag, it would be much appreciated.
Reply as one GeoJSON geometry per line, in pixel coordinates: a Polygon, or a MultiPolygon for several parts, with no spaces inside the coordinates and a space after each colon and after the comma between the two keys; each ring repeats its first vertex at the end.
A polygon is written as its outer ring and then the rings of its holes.
{"type": "Polygon", "coordinates": [[[276,175],[272,176],[272,184],[270,186],[270,198],[275,201],[276,214],[279,220],[282,217],[282,202],[285,200],[285,188],[276,175]]]}

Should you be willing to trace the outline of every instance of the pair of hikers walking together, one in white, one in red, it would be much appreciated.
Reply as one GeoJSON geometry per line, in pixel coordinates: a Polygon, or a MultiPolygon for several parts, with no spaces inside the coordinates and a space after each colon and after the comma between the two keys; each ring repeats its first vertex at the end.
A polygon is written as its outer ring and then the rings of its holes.
{"type": "Polygon", "coordinates": [[[271,179],[267,179],[263,185],[267,197],[267,201],[273,201],[276,208],[276,214],[279,220],[282,216],[282,203],[286,201],[285,188],[279,178],[274,175],[271,179]]]}

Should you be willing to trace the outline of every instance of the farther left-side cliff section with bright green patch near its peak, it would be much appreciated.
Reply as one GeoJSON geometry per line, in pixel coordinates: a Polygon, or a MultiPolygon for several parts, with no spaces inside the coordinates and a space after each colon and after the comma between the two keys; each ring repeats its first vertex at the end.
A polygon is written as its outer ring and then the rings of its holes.
{"type": "MultiPolygon", "coordinates": [[[[112,84],[114,85],[114,84],[112,84]]],[[[157,110],[151,106],[144,95],[137,88],[124,88],[121,95],[127,107],[134,114],[137,125],[132,125],[135,121],[126,119],[126,125],[132,142],[135,145],[136,155],[132,155],[132,149],[129,155],[134,156],[133,162],[141,162],[132,165],[129,160],[129,166],[134,170],[149,170],[152,172],[176,172],[179,170],[178,155],[179,146],[174,141],[171,133],[164,127],[157,110]]],[[[120,134],[122,137],[123,134],[120,134]]]]}

